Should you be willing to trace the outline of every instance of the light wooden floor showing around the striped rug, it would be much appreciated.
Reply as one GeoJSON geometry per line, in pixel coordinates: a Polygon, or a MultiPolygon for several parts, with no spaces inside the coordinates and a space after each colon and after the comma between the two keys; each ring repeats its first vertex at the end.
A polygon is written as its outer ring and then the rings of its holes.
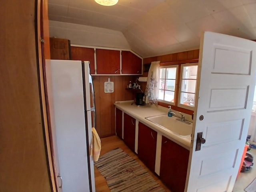
{"type": "MultiPolygon", "coordinates": [[[[129,154],[130,156],[132,156],[132,158],[134,158],[135,160],[138,161],[138,163],[144,167],[151,175],[152,177],[156,180],[156,182],[158,182],[165,190],[166,192],[171,192],[160,180],[159,178],[153,174],[138,158],[138,156],[136,156],[136,154],[134,154],[134,152],[132,152],[127,146],[126,144],[124,144],[124,142],[122,140],[120,140],[120,138],[118,138],[118,136],[110,136],[110,137],[106,137],[106,138],[102,138],[101,139],[101,152],[100,152],[100,156],[102,156],[103,154],[109,152],[112,149],[115,148],[121,148],[124,152],[126,152],[127,154],[129,154]]],[[[96,192],[110,192],[108,185],[106,183],[105,178],[100,174],[100,172],[98,171],[98,169],[94,166],[94,174],[95,174],[95,185],[96,185],[96,192]]]]}

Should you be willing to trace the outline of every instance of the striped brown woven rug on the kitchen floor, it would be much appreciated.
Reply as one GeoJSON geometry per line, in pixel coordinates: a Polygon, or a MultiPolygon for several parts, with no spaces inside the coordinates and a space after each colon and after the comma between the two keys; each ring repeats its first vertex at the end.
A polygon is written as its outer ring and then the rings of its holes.
{"type": "Polygon", "coordinates": [[[120,148],[104,154],[94,165],[106,178],[111,192],[165,192],[136,160],[120,148]]]}

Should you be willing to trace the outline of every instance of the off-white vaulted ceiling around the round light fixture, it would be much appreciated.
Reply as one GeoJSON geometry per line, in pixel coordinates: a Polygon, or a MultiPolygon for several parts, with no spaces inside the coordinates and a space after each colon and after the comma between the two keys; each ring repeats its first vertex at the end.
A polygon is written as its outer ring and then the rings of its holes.
{"type": "Polygon", "coordinates": [[[256,0],[48,0],[49,20],[121,32],[142,57],[199,48],[203,31],[256,39],[256,0]]]}

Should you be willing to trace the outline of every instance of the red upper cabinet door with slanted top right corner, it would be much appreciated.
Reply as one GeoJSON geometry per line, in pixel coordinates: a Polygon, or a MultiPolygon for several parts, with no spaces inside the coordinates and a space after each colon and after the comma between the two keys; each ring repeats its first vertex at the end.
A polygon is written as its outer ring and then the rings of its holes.
{"type": "Polygon", "coordinates": [[[142,74],[142,59],[130,51],[122,51],[122,74],[142,74]]]}

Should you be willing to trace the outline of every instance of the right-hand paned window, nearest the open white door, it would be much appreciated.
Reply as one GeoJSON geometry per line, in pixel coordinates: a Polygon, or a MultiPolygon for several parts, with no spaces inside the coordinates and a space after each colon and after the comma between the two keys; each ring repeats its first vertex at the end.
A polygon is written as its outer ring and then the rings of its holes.
{"type": "Polygon", "coordinates": [[[197,64],[181,65],[180,91],[178,106],[193,110],[196,93],[197,64]]]}

